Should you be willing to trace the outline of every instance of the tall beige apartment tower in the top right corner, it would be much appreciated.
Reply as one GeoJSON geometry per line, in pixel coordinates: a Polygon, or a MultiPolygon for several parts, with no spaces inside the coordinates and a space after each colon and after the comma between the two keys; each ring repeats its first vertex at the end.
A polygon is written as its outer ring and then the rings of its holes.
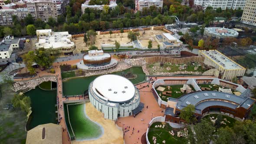
{"type": "Polygon", "coordinates": [[[256,25],[256,0],[247,0],[243,9],[242,23],[256,25]]]}

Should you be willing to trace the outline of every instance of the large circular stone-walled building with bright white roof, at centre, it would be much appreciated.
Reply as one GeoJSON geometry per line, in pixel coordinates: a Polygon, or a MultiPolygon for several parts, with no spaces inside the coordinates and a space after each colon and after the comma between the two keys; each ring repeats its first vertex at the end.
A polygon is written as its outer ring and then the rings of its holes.
{"type": "Polygon", "coordinates": [[[133,111],[140,104],[138,89],[119,75],[102,75],[92,81],[89,98],[92,105],[104,114],[104,118],[112,120],[134,115],[133,111]]]}

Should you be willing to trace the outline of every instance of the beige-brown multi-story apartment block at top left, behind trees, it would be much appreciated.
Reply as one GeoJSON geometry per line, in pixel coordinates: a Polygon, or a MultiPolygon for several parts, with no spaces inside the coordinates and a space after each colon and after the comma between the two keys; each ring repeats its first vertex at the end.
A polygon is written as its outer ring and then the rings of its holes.
{"type": "Polygon", "coordinates": [[[41,19],[44,22],[47,22],[49,17],[57,19],[64,10],[62,0],[35,0],[28,1],[26,5],[34,20],[41,19]]]}

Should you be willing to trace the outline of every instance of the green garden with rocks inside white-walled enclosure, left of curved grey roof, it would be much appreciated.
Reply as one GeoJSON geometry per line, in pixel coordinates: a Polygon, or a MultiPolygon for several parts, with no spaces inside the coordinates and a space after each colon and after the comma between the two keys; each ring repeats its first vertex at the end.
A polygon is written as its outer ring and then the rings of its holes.
{"type": "MultiPolygon", "coordinates": [[[[192,85],[188,85],[191,91],[194,92],[195,89],[192,85]]],[[[186,94],[186,92],[181,92],[183,85],[160,85],[155,88],[161,100],[168,101],[168,98],[179,98],[181,95],[186,94]],[[159,88],[160,87],[160,88],[159,88]],[[162,88],[161,88],[162,87],[162,88]]]]}

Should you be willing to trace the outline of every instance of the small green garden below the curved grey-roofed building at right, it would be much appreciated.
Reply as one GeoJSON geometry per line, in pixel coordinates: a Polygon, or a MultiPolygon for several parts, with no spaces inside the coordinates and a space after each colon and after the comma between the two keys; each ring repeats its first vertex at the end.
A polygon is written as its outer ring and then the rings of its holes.
{"type": "Polygon", "coordinates": [[[219,118],[218,121],[220,121],[220,127],[222,127],[222,128],[225,128],[225,127],[232,128],[234,126],[235,122],[236,122],[236,119],[231,118],[227,115],[221,115],[220,116],[220,114],[210,114],[210,115],[206,115],[203,118],[207,119],[207,121],[212,121],[212,122],[214,121],[213,123],[216,123],[216,121],[217,121],[216,118],[219,118]]]}

